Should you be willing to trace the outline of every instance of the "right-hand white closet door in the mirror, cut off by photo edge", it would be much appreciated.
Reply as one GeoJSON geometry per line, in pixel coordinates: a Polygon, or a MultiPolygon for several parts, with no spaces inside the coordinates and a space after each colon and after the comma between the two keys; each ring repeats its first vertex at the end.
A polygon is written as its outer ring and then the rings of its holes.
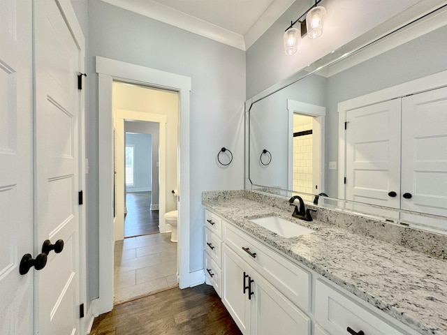
{"type": "Polygon", "coordinates": [[[447,87],[402,99],[401,191],[402,209],[447,216],[447,87]]]}

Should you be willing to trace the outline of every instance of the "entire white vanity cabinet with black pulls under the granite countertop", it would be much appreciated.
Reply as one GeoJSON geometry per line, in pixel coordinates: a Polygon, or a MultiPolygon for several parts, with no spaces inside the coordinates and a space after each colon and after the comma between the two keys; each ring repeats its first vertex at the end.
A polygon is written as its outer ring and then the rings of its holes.
{"type": "Polygon", "coordinates": [[[206,209],[204,248],[207,283],[244,335],[418,334],[206,209]]]}

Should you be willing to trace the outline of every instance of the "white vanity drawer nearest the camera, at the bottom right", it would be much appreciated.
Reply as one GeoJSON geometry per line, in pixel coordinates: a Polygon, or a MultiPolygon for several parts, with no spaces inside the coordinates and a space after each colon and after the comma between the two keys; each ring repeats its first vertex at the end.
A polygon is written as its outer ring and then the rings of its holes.
{"type": "Polygon", "coordinates": [[[315,318],[325,329],[330,329],[331,335],[349,335],[348,327],[372,335],[404,334],[376,316],[374,311],[360,306],[319,279],[315,285],[315,318]]]}

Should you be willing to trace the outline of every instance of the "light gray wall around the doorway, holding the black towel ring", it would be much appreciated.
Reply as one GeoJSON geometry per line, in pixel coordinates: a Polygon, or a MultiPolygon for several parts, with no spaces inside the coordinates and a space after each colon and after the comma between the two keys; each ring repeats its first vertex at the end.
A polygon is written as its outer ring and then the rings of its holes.
{"type": "Polygon", "coordinates": [[[243,107],[245,53],[168,24],[89,0],[89,105],[87,176],[89,207],[89,297],[98,296],[98,76],[94,57],[156,68],[191,77],[190,103],[190,269],[203,269],[201,193],[244,187],[243,107]],[[233,163],[221,168],[221,147],[233,151],[233,163]]]}

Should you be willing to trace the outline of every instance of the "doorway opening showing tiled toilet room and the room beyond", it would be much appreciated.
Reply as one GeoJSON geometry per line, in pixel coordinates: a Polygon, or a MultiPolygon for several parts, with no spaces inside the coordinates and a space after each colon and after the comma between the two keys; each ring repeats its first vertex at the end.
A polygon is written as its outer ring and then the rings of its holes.
{"type": "Polygon", "coordinates": [[[177,209],[179,96],[113,82],[114,304],[177,286],[177,243],[164,214],[177,209]],[[169,120],[169,121],[168,121],[169,120]]]}

